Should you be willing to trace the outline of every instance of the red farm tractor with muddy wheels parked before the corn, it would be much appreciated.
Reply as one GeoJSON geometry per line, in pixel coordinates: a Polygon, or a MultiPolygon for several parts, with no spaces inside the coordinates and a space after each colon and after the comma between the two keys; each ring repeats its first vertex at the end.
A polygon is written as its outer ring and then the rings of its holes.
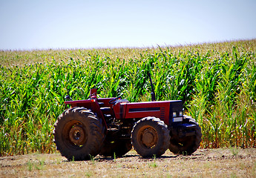
{"type": "Polygon", "coordinates": [[[121,96],[67,101],[54,124],[56,148],[68,160],[93,156],[122,156],[132,146],[142,157],[161,156],[169,148],[174,154],[190,155],[200,146],[201,128],[183,115],[181,100],[128,102],[121,96]]]}

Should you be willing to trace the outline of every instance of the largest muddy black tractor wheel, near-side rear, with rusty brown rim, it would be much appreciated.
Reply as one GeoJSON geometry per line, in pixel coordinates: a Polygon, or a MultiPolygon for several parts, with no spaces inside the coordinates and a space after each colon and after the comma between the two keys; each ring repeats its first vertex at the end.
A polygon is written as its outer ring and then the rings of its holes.
{"type": "Polygon", "coordinates": [[[68,160],[91,159],[99,154],[105,139],[102,122],[85,108],[64,111],[54,124],[56,148],[68,160]]]}

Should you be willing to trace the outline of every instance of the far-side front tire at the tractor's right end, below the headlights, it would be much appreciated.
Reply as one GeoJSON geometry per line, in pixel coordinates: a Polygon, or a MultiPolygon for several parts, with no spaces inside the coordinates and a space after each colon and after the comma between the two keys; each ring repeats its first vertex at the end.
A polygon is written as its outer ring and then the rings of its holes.
{"type": "Polygon", "coordinates": [[[174,154],[191,155],[194,151],[197,151],[197,148],[200,146],[200,142],[202,140],[201,128],[194,119],[191,119],[191,117],[185,117],[183,122],[197,125],[194,129],[196,134],[194,136],[186,136],[181,139],[171,136],[169,150],[174,154]]]}

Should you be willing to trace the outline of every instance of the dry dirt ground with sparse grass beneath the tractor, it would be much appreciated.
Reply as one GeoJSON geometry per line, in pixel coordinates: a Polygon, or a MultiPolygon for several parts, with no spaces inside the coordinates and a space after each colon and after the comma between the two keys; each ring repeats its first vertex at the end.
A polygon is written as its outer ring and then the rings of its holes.
{"type": "Polygon", "coordinates": [[[79,162],[60,154],[28,154],[0,157],[0,168],[0,177],[256,177],[256,149],[199,149],[191,156],[166,151],[151,159],[131,150],[122,158],[79,162]]]}

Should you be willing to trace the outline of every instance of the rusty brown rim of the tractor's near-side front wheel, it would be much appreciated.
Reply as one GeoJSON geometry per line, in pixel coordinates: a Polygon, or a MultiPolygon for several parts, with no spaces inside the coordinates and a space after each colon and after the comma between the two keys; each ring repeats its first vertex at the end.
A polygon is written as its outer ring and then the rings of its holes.
{"type": "Polygon", "coordinates": [[[138,140],[143,148],[154,148],[158,141],[157,131],[148,125],[144,126],[138,131],[138,140]]]}

